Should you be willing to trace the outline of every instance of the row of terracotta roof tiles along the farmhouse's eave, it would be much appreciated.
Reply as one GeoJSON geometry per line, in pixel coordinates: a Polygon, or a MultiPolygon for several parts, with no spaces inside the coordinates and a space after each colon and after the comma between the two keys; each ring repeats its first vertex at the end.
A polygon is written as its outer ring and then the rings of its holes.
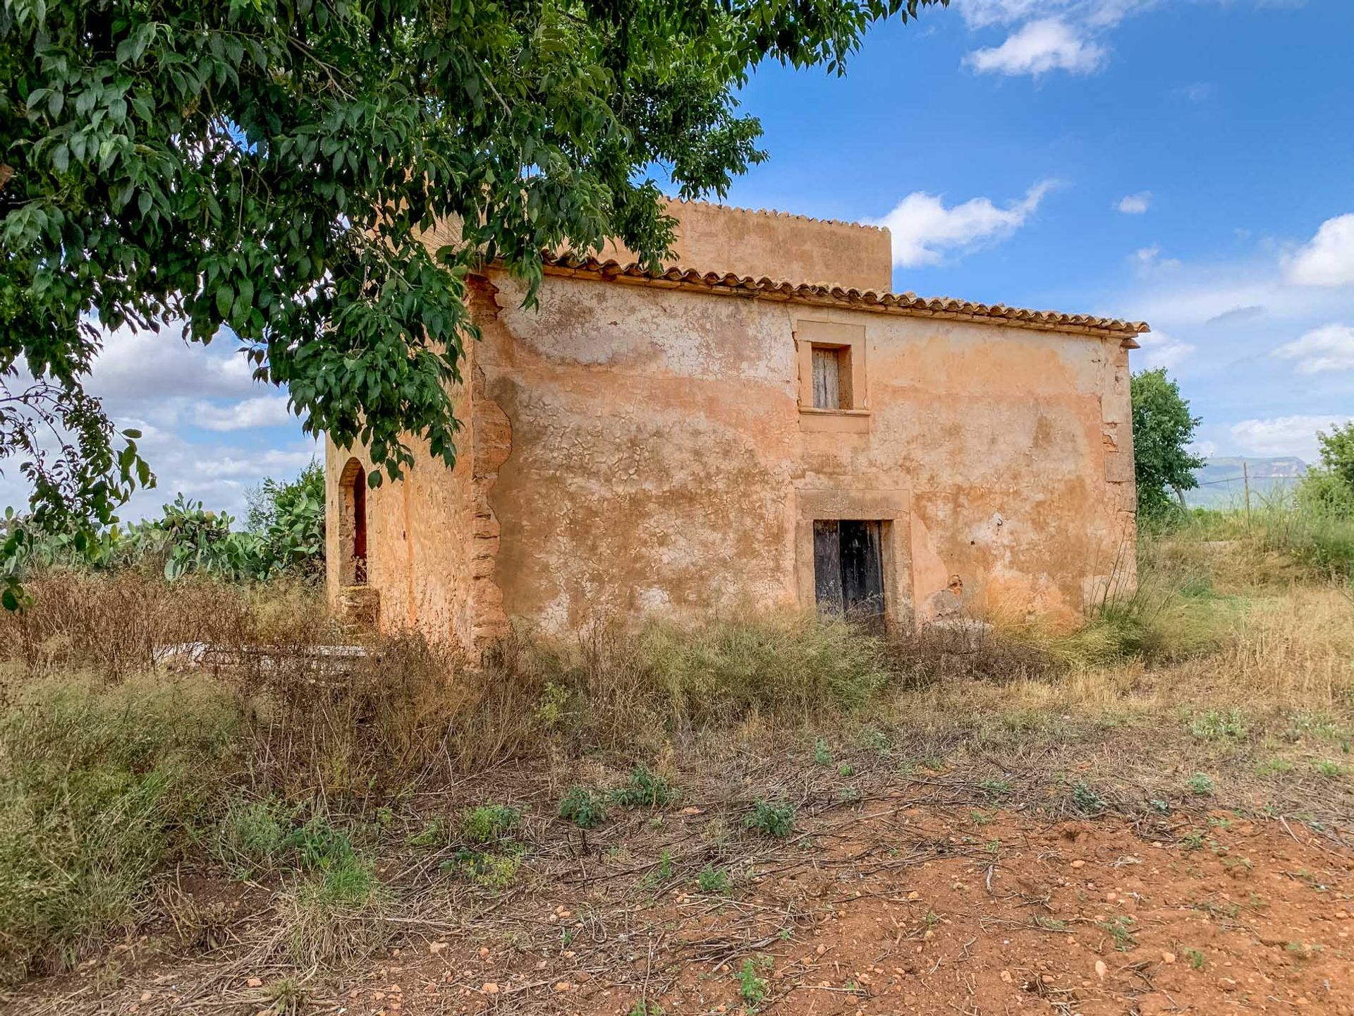
{"type": "Polygon", "coordinates": [[[871,310],[876,313],[909,314],[914,317],[982,318],[1024,328],[1053,332],[1113,335],[1136,348],[1133,336],[1151,331],[1145,321],[1121,321],[1091,314],[1063,314],[1056,310],[1025,310],[1003,303],[974,303],[949,297],[918,297],[915,293],[875,293],[873,290],[845,289],[815,283],[792,283],[751,275],[700,272],[695,268],[666,268],[649,271],[642,264],[621,264],[615,260],[575,257],[573,255],[544,255],[550,275],[594,276],[678,289],[724,291],[731,295],[750,295],[761,299],[784,299],[798,303],[830,303],[871,310]]]}

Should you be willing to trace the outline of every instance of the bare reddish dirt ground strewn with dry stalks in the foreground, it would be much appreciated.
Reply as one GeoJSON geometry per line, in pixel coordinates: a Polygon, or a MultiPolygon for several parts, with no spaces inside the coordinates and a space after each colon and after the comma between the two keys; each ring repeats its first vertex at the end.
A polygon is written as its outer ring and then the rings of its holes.
{"type": "Polygon", "coordinates": [[[261,886],[192,883],[234,895],[226,941],[167,952],[149,929],[7,1011],[287,1012],[292,977],[305,1013],[1354,1012],[1354,853],[1296,820],[1070,818],[955,772],[869,784],[806,779],[779,840],[738,806],[584,833],[543,805],[516,887],[439,879],[437,853],[387,867],[418,889],[347,970],[269,951],[261,886]],[[703,870],[726,891],[701,891],[703,870]]]}

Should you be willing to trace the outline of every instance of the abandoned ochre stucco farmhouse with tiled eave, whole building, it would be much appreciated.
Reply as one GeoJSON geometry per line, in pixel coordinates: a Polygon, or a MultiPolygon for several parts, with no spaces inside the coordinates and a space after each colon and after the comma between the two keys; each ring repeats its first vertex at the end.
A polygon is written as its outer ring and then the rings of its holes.
{"type": "Polygon", "coordinates": [[[533,310],[474,280],[455,469],[368,490],[328,444],[336,604],[475,652],[513,619],[1070,620],[1133,581],[1144,324],[891,294],[884,229],[670,213],[663,272],[548,257],[533,310]]]}

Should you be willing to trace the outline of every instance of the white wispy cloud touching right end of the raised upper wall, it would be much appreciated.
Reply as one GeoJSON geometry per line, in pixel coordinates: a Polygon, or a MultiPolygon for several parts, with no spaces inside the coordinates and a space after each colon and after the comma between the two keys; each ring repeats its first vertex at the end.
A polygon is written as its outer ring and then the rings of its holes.
{"type": "Polygon", "coordinates": [[[945,251],[969,249],[1014,233],[1055,186],[1053,180],[1037,183],[1006,207],[998,207],[990,198],[945,207],[940,195],[913,191],[873,225],[887,226],[892,234],[895,266],[940,264],[945,251]]]}

